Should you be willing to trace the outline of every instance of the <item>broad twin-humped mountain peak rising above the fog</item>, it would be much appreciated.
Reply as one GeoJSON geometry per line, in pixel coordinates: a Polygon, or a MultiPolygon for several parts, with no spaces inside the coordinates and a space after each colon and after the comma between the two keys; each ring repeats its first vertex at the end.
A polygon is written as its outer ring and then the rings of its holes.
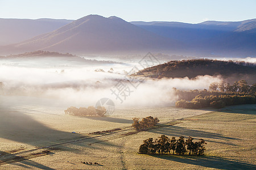
{"type": "Polygon", "coordinates": [[[117,16],[88,15],[38,37],[15,44],[26,50],[114,52],[174,49],[179,42],[139,28],[117,16]]]}

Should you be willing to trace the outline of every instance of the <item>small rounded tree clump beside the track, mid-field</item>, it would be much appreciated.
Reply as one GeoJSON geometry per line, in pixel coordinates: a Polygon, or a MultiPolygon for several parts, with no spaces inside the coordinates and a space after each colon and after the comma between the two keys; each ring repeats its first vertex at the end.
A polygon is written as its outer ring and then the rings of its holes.
{"type": "Polygon", "coordinates": [[[139,121],[139,118],[133,118],[133,124],[131,125],[133,128],[135,128],[137,131],[143,131],[147,130],[148,128],[154,127],[156,124],[158,124],[159,119],[157,117],[148,116],[145,118],[142,118],[141,121],[139,121]]]}

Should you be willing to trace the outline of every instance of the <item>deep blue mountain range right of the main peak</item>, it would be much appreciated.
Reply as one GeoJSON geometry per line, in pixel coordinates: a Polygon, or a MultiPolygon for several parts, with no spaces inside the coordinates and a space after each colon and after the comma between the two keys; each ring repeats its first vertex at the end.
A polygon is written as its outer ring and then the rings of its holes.
{"type": "Polygon", "coordinates": [[[194,54],[256,56],[256,19],[242,22],[131,22],[160,36],[179,40],[194,54]]]}

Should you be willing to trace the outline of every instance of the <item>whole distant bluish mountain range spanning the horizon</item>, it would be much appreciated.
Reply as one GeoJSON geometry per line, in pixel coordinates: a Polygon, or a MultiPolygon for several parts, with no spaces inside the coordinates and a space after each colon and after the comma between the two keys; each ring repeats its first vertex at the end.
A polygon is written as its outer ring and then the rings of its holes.
{"type": "Polygon", "coordinates": [[[4,35],[0,45],[5,42],[0,46],[0,54],[51,50],[75,54],[150,51],[190,56],[256,56],[256,19],[199,24],[129,23],[116,16],[88,15],[74,21],[6,19],[5,23],[6,29],[0,28],[0,36],[4,35]]]}

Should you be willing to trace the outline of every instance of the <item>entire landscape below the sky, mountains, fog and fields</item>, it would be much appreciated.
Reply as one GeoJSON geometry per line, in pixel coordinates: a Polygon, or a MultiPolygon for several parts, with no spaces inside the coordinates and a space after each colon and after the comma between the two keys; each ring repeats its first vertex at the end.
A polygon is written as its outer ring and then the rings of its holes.
{"type": "Polygon", "coordinates": [[[0,19],[0,169],[255,169],[255,30],[0,19]]]}

